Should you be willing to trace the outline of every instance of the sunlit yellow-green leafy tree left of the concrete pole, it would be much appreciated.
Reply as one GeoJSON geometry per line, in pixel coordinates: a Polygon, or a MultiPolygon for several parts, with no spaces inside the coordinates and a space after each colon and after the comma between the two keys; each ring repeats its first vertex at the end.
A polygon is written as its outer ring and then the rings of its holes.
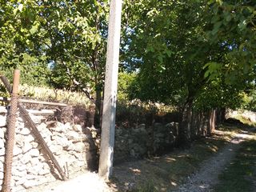
{"type": "Polygon", "coordinates": [[[69,88],[73,82],[96,104],[99,115],[109,2],[10,1],[1,2],[0,11],[1,60],[9,61],[6,67],[31,66],[23,65],[22,54],[44,58],[46,67],[51,66],[50,85],[69,88]]]}

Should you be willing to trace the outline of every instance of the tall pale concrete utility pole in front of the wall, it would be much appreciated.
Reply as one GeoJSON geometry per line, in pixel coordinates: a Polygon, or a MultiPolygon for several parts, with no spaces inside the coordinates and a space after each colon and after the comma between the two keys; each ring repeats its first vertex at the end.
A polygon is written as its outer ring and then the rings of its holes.
{"type": "Polygon", "coordinates": [[[114,126],[118,88],[118,62],[122,0],[110,1],[110,18],[106,51],[106,78],[102,113],[102,138],[98,174],[108,179],[112,174],[114,126]]]}

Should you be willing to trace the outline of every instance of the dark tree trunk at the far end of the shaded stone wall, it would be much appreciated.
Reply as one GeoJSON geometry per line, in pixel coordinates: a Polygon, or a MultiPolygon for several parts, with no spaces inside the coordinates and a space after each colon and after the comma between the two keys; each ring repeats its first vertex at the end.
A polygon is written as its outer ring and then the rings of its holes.
{"type": "Polygon", "coordinates": [[[182,121],[178,129],[178,145],[190,146],[190,129],[193,100],[188,100],[182,110],[182,121]]]}

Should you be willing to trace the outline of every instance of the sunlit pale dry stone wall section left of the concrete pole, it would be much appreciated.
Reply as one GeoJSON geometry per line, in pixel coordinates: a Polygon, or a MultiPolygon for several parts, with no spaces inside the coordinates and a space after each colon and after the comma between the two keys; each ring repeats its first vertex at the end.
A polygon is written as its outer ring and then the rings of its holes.
{"type": "MultiPolygon", "coordinates": [[[[95,144],[97,145],[96,142],[99,141],[94,129],[70,122],[65,124],[57,121],[46,122],[42,116],[32,114],[30,117],[37,124],[38,130],[67,177],[95,166],[98,151],[95,144]]],[[[0,190],[4,178],[6,118],[7,110],[0,106],[0,190]]],[[[26,191],[31,187],[59,179],[58,171],[20,117],[15,132],[12,191],[26,191]]]]}

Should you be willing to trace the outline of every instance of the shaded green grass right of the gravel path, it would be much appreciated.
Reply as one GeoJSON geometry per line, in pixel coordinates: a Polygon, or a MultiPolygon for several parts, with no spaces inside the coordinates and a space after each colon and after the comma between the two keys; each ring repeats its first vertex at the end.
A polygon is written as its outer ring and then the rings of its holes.
{"type": "Polygon", "coordinates": [[[256,141],[242,143],[236,158],[219,176],[220,182],[216,192],[250,192],[255,191],[256,180],[256,141]]]}

